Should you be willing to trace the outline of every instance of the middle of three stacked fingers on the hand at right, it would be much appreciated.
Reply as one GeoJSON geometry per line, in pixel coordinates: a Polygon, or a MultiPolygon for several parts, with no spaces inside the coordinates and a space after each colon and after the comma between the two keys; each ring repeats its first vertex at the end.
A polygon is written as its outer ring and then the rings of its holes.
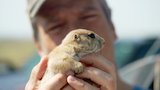
{"type": "Polygon", "coordinates": [[[76,76],[80,78],[87,78],[98,84],[101,88],[116,90],[116,79],[111,74],[95,67],[86,67],[84,72],[76,76]]]}

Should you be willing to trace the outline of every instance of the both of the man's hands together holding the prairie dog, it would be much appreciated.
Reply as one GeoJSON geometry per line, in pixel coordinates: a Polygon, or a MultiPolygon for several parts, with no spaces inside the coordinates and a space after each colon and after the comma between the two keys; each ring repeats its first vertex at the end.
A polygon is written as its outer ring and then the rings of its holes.
{"type": "Polygon", "coordinates": [[[102,56],[89,56],[81,60],[87,67],[79,75],[67,76],[59,73],[47,83],[39,85],[47,62],[47,57],[44,57],[33,68],[25,90],[117,90],[115,66],[102,56]],[[90,79],[97,85],[92,85],[83,79],[90,79]]]}

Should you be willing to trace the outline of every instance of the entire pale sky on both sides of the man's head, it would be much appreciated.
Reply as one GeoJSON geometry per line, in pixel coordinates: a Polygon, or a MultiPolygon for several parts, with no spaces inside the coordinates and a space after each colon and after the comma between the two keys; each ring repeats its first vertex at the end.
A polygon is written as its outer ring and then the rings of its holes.
{"type": "MultiPolygon", "coordinates": [[[[107,0],[119,38],[160,36],[160,0],[107,0]]],[[[1,0],[0,39],[31,39],[26,0],[1,0]]]]}

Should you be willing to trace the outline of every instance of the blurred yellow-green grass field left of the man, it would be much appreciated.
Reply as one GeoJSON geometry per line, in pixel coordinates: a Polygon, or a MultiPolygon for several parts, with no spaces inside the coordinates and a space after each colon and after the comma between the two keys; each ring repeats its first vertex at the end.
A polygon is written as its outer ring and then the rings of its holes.
{"type": "Polygon", "coordinates": [[[27,58],[35,52],[35,46],[32,41],[0,41],[0,63],[7,63],[15,69],[22,67],[27,58]]]}

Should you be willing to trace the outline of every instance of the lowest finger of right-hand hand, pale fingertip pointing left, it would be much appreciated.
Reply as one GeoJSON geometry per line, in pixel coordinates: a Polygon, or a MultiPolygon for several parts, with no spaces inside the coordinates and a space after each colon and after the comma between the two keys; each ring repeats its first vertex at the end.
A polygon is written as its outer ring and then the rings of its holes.
{"type": "Polygon", "coordinates": [[[68,84],[75,90],[99,90],[97,87],[78,79],[72,75],[67,77],[68,84]]]}

